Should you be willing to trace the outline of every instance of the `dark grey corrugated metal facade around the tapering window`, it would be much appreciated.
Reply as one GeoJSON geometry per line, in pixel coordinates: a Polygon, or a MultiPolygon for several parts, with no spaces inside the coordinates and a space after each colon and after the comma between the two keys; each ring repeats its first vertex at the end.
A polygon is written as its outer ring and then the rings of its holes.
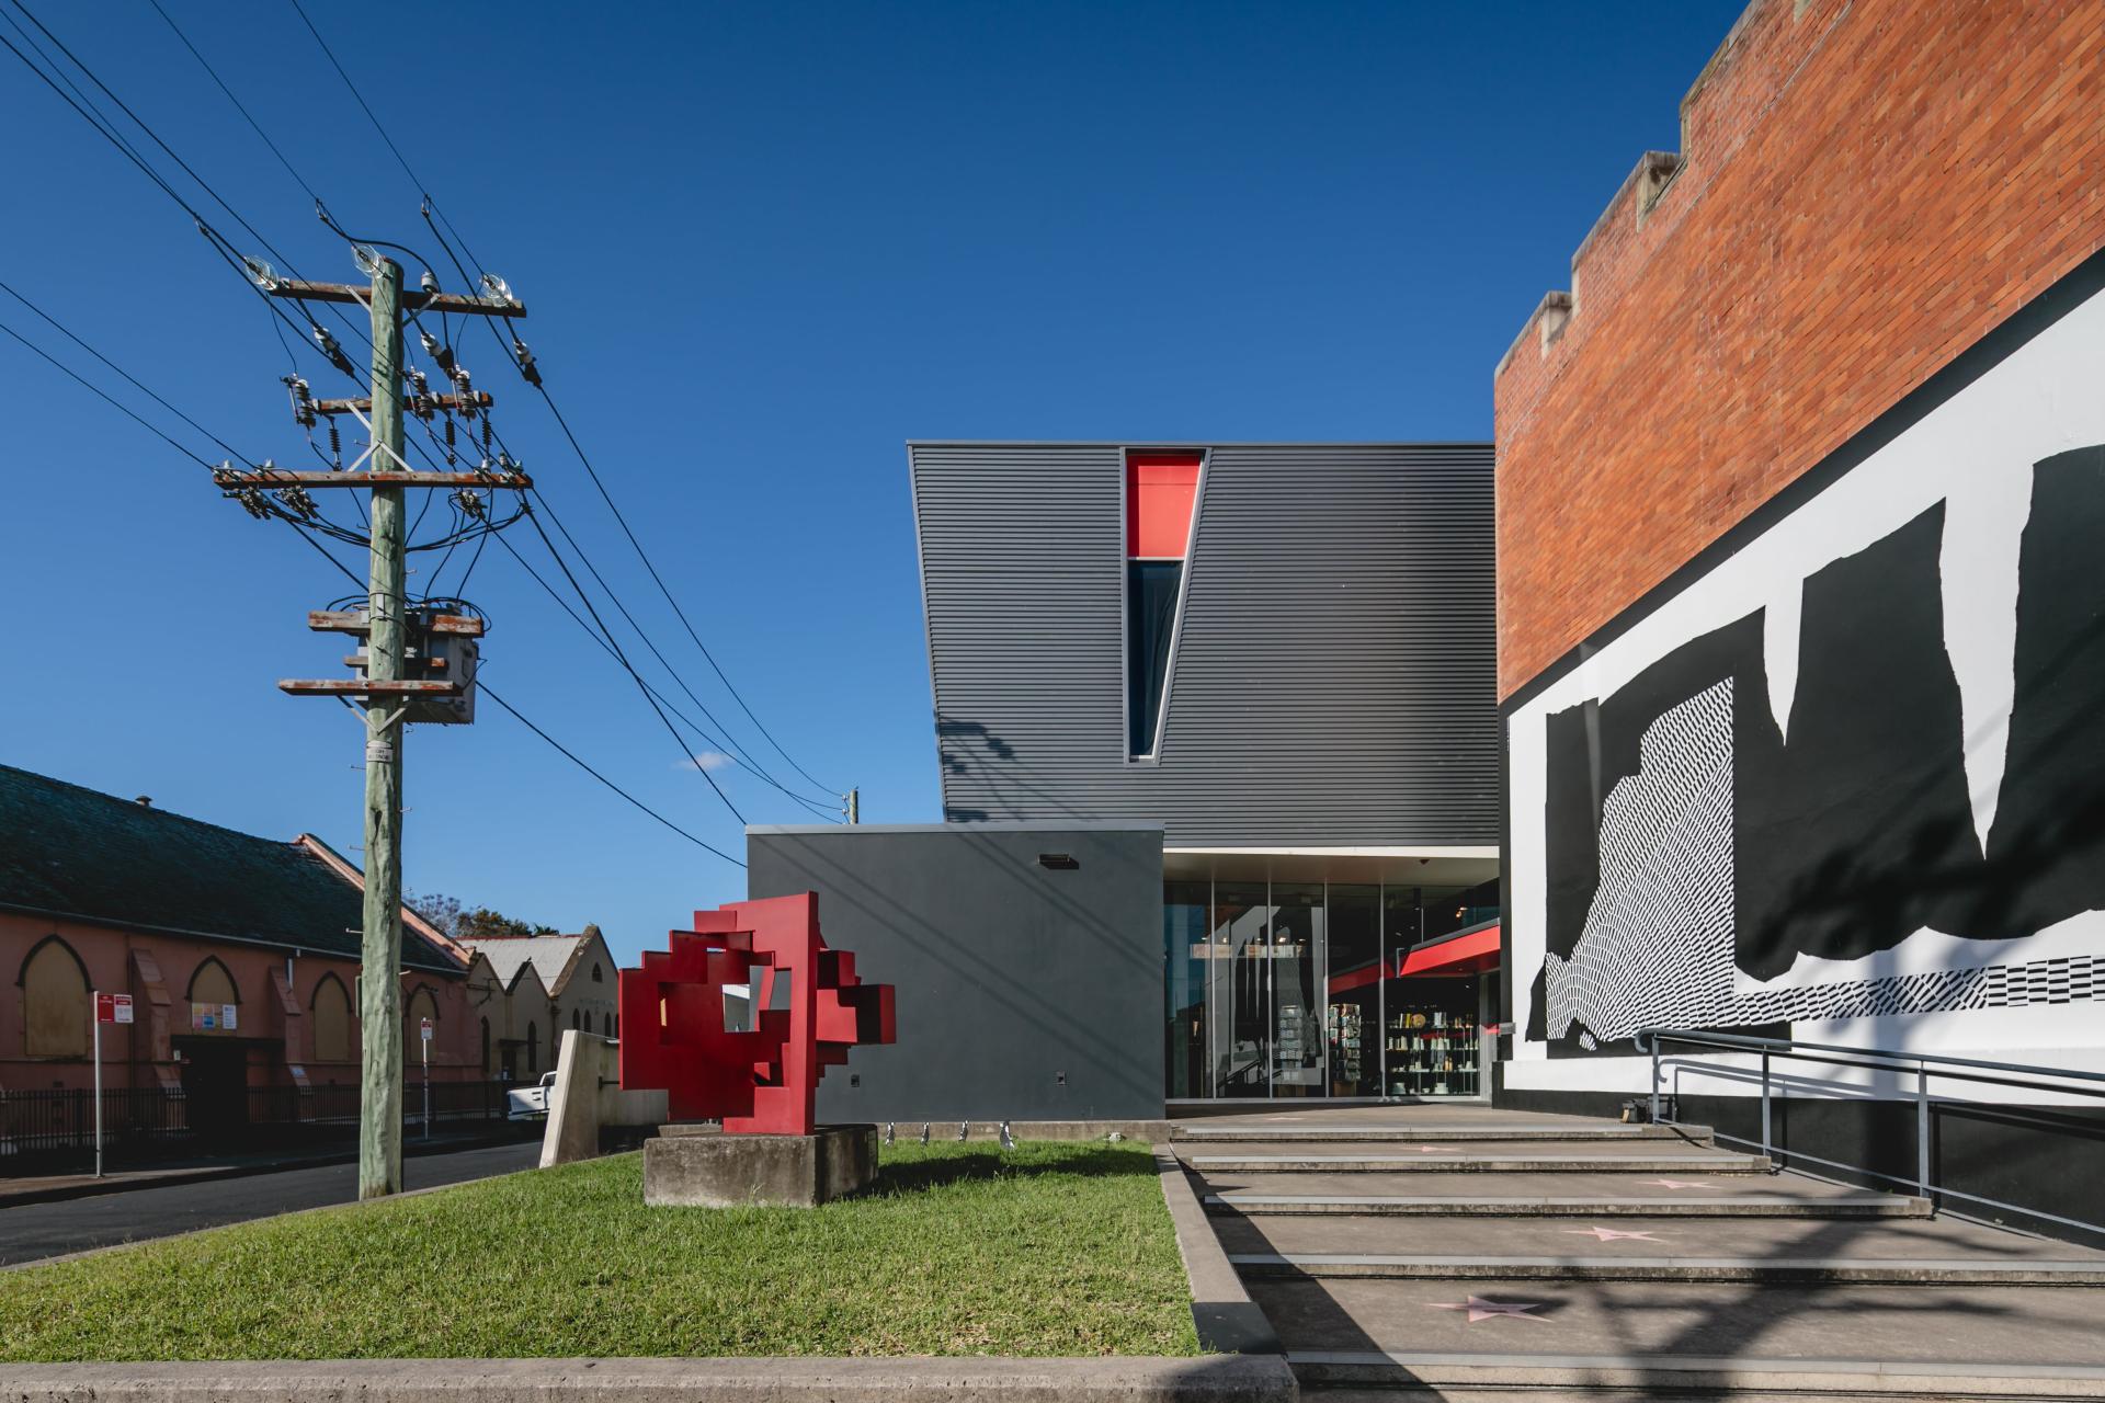
{"type": "Polygon", "coordinates": [[[1499,839],[1490,444],[909,446],[943,816],[1172,848],[1499,839]],[[1126,755],[1124,456],[1204,456],[1154,759],[1126,755]]]}

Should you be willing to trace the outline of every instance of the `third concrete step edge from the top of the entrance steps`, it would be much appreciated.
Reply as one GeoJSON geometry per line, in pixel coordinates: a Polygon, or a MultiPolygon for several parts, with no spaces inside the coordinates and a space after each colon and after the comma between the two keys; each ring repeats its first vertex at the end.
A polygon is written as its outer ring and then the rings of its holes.
{"type": "Polygon", "coordinates": [[[1615,1195],[1461,1195],[1461,1193],[1208,1193],[1206,1212],[1337,1214],[1347,1218],[1928,1218],[1930,1201],[1894,1193],[1848,1193],[1802,1199],[1777,1193],[1707,1193],[1678,1199],[1615,1195]]]}

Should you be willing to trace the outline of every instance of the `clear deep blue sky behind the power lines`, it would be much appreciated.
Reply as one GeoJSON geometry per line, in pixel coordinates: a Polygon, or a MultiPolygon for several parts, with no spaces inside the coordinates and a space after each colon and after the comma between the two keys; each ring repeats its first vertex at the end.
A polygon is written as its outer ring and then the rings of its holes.
{"type": "MultiPolygon", "coordinates": [[[[143,0],[29,4],[305,276],[358,276],[143,0]]],[[[164,4],[347,229],[444,263],[417,185],[286,0],[164,4]]],[[[865,822],[939,816],[905,440],[1488,438],[1492,364],[1638,156],[1676,145],[1676,105],[1737,11],[638,4],[617,23],[309,4],[528,303],[556,402],[703,639],[804,770],[861,787],[865,822]]],[[[246,456],[301,461],[286,353],[189,219],[4,50],[0,130],[0,278],[246,456]]],[[[4,294],[0,322],[124,389],[4,294]]],[[[301,360],[318,393],[345,393],[301,360]]],[[[671,665],[787,770],[539,398],[486,334],[463,360],[671,665]]],[[[358,724],[274,688],[341,673],[341,639],[303,616],[349,585],[4,337],[0,374],[0,761],[356,858],[358,724]]],[[[524,528],[509,541],[547,570],[524,528]]],[[[493,618],[493,686],[743,850],[627,675],[503,551],[467,593],[493,618]]],[[[472,728],[413,730],[406,759],[417,890],[598,921],[621,957],[743,896],[739,869],[486,703],[472,728]]],[[[804,818],[737,768],[714,778],[749,820],[804,818]]]]}

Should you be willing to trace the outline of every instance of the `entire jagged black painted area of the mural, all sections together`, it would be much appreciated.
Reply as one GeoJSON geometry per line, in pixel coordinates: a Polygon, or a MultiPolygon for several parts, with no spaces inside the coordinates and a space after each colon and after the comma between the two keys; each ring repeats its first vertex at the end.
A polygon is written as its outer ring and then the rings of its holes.
{"type": "MultiPolygon", "coordinates": [[[[1987,854],[1945,652],[1939,503],[1806,578],[1785,745],[1762,614],[1690,639],[1606,703],[1547,719],[1549,953],[1568,955],[1600,883],[1600,806],[1665,711],[1735,679],[1735,963],[1857,959],[1922,928],[2006,940],[2105,909],[2105,446],[2038,463],[2025,526],[2014,705],[1987,854]]],[[[1543,1039],[1535,976],[1526,1035],[1543,1039]]],[[[1570,1039],[1549,1045],[1572,1056],[1570,1039]]],[[[1627,1052],[1629,1045],[1602,1048],[1627,1052]]]]}

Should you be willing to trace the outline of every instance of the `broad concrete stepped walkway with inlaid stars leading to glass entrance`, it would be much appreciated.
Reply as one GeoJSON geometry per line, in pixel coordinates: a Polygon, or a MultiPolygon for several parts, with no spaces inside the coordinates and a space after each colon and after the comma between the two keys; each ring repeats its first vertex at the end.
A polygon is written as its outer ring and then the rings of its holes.
{"type": "Polygon", "coordinates": [[[1179,1121],[1305,1395],[2105,1399],[2105,1252],[1488,1106],[1179,1121]]]}

